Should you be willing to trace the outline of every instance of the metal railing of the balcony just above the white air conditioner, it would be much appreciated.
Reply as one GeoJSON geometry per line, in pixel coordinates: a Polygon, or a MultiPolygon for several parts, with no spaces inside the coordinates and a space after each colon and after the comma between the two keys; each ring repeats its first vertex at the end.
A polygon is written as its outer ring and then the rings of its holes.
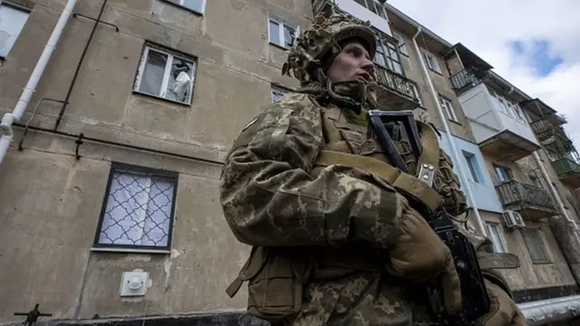
{"type": "Polygon", "coordinates": [[[539,206],[556,210],[552,197],[541,187],[509,180],[497,185],[496,190],[504,206],[539,206]]]}

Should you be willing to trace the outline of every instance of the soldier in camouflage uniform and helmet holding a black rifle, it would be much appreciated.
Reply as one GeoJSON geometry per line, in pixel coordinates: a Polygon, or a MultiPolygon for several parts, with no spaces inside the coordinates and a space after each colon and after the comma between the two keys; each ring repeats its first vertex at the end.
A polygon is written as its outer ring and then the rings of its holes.
{"type": "MultiPolygon", "coordinates": [[[[426,282],[440,283],[447,312],[461,309],[449,248],[401,195],[404,185],[333,162],[343,155],[387,166],[377,141],[366,137],[365,112],[376,108],[375,47],[368,22],[317,16],[283,68],[301,88],[250,121],[227,156],[220,202],[234,235],[252,246],[227,293],[248,282],[251,315],[285,325],[430,325],[426,282]]],[[[449,156],[436,153],[436,194],[459,216],[465,197],[449,156]]],[[[405,158],[416,173],[417,162],[405,158]]],[[[469,239],[492,262],[480,261],[492,304],[478,325],[525,325],[491,269],[501,264],[489,240],[469,239]]]]}

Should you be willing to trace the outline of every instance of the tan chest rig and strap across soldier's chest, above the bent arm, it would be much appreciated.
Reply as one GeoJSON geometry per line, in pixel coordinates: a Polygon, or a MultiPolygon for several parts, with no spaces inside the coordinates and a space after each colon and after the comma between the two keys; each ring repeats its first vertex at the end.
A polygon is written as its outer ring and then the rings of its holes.
{"type": "Polygon", "coordinates": [[[443,204],[451,215],[465,210],[465,198],[459,191],[453,165],[449,156],[440,150],[437,135],[430,126],[417,121],[423,148],[420,158],[413,154],[407,139],[396,141],[396,148],[409,169],[407,174],[393,168],[379,141],[368,137],[364,111],[357,115],[350,110],[330,107],[324,111],[322,119],[326,144],[314,162],[313,177],[324,167],[343,164],[371,172],[430,208],[443,204]]]}

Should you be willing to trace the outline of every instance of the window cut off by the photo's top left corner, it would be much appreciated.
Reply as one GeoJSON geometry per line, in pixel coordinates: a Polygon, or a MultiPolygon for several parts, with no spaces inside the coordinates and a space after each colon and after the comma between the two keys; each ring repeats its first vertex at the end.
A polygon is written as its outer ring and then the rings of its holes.
{"type": "Polygon", "coordinates": [[[0,3],[0,58],[5,58],[26,24],[29,13],[14,5],[0,3]]]}

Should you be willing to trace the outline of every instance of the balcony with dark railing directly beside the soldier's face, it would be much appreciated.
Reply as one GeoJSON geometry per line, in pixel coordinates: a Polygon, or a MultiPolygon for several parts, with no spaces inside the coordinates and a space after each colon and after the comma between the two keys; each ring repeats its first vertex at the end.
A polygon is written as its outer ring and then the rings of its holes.
{"type": "Polygon", "coordinates": [[[390,110],[413,110],[420,106],[413,91],[414,82],[378,64],[374,69],[377,82],[382,86],[377,90],[379,105],[390,110]]]}

